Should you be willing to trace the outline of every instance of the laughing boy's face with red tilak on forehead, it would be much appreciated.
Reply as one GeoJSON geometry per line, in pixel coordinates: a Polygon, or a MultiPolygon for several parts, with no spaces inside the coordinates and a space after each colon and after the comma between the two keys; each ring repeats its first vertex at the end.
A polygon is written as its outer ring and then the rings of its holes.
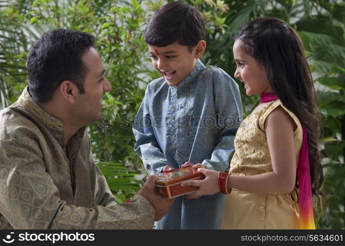
{"type": "Polygon", "coordinates": [[[153,67],[163,76],[169,86],[177,86],[193,70],[200,58],[198,45],[190,52],[186,45],[174,42],[168,46],[148,46],[153,67]]]}

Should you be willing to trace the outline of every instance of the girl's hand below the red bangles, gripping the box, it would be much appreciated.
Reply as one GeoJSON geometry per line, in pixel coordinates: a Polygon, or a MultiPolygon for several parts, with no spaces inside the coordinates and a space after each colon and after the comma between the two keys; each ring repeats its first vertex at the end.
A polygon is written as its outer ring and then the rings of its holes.
{"type": "Polygon", "coordinates": [[[199,198],[203,195],[213,195],[219,191],[217,171],[207,170],[206,168],[198,168],[198,171],[206,176],[204,180],[187,180],[181,183],[181,186],[199,186],[198,190],[186,195],[187,198],[199,198]]]}

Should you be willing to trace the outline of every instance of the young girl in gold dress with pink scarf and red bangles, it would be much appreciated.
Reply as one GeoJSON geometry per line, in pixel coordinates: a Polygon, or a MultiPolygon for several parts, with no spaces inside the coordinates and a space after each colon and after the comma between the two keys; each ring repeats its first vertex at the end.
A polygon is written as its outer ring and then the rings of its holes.
{"type": "Polygon", "coordinates": [[[235,77],[261,103],[237,132],[229,173],[199,168],[206,178],[182,185],[200,186],[191,198],[228,194],[222,229],[314,229],[319,113],[301,39],[283,21],[259,18],[242,27],[233,52],[235,77]]]}

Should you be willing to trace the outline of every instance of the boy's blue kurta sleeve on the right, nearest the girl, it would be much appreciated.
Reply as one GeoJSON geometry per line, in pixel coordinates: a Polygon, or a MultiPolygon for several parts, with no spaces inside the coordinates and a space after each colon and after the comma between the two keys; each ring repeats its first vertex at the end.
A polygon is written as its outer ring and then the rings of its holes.
{"type": "Polygon", "coordinates": [[[214,105],[219,122],[217,145],[211,158],[202,162],[207,169],[225,171],[234,151],[234,139],[242,122],[242,104],[239,86],[226,74],[213,86],[214,105]]]}

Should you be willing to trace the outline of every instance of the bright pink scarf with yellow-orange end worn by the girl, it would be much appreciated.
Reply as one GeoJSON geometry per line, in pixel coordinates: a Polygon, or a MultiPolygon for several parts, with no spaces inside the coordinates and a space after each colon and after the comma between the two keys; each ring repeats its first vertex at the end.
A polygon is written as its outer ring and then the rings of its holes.
{"type": "MultiPolygon", "coordinates": [[[[264,92],[260,95],[261,103],[279,99],[275,93],[264,92]]],[[[302,124],[302,123],[301,123],[302,124]]],[[[303,140],[297,165],[299,184],[299,229],[315,229],[312,209],[311,176],[306,127],[302,124],[303,140]]]]}

